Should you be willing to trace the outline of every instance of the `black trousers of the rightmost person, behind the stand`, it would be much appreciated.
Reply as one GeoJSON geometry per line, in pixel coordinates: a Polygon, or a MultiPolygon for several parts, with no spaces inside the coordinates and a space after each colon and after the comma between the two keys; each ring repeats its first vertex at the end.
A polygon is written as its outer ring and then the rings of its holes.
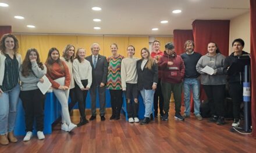
{"type": "Polygon", "coordinates": [[[240,105],[243,101],[243,85],[241,83],[229,83],[229,95],[233,102],[233,117],[240,118],[240,105]]]}

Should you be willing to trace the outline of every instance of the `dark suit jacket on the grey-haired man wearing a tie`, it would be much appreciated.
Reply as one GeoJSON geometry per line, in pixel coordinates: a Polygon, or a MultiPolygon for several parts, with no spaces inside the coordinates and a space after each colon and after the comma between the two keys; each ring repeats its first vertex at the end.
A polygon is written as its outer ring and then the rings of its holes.
{"type": "Polygon", "coordinates": [[[87,56],[86,60],[90,61],[92,71],[93,82],[92,86],[99,86],[102,83],[106,84],[106,77],[108,75],[108,62],[106,61],[106,57],[98,54],[97,64],[94,68],[92,55],[87,56]]]}

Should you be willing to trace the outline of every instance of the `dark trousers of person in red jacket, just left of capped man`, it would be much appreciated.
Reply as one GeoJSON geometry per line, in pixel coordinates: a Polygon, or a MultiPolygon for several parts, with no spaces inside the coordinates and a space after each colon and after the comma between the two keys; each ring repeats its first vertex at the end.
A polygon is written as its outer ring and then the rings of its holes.
{"type": "Polygon", "coordinates": [[[160,113],[162,113],[163,112],[163,94],[162,94],[162,87],[161,87],[161,79],[158,79],[157,89],[155,90],[155,94],[154,94],[155,114],[158,114],[158,99],[159,99],[159,111],[160,113]]]}

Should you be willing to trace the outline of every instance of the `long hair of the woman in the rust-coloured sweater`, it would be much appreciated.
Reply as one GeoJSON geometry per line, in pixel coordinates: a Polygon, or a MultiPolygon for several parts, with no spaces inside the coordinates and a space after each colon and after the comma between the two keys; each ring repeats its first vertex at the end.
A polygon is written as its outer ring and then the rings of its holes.
{"type": "Polygon", "coordinates": [[[52,64],[54,64],[55,62],[56,63],[58,63],[59,64],[59,66],[61,67],[61,70],[62,71],[65,71],[65,68],[64,68],[64,65],[62,64],[62,61],[61,61],[61,59],[57,59],[57,60],[53,60],[52,59],[52,52],[54,52],[54,51],[57,51],[58,53],[59,53],[59,50],[58,49],[56,49],[56,48],[51,48],[50,50],[49,50],[49,52],[48,52],[48,56],[47,56],[47,60],[46,60],[46,62],[45,62],[45,65],[47,66],[47,68],[48,68],[48,71],[50,71],[51,72],[51,70],[52,70],[52,64]]]}

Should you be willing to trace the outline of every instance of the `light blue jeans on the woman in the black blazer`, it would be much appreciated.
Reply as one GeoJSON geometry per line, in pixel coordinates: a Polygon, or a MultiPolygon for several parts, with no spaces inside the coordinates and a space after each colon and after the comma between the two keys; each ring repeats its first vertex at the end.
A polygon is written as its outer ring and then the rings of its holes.
{"type": "Polygon", "coordinates": [[[145,105],[145,117],[149,118],[152,113],[152,107],[154,105],[154,93],[155,90],[140,90],[141,97],[143,98],[143,103],[145,105]]]}

